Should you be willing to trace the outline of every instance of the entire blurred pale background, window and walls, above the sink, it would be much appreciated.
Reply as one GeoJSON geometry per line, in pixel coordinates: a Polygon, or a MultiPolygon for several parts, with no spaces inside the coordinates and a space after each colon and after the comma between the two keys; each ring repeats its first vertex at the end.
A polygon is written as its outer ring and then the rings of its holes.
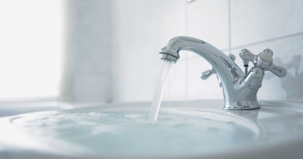
{"type": "MultiPolygon", "coordinates": [[[[266,72],[258,98],[303,100],[301,0],[0,0],[2,101],[151,101],[158,50],[192,36],[236,55],[274,51],[285,78],[266,72]]],[[[164,99],[223,99],[209,64],[180,52],[164,99]]]]}

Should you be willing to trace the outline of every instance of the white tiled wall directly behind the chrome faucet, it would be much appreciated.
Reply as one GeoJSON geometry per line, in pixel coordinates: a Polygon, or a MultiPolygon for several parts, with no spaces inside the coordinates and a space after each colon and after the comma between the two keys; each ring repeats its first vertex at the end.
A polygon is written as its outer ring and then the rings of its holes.
{"type": "MultiPolygon", "coordinates": [[[[175,36],[207,41],[224,53],[247,48],[274,51],[274,63],[287,68],[278,78],[266,72],[259,99],[303,100],[303,1],[301,0],[115,0],[112,2],[114,102],[152,99],[159,69],[158,50],[175,36]],[[230,15],[230,21],[229,21],[230,15]],[[230,22],[230,37],[229,37],[230,22]]],[[[165,99],[223,99],[215,75],[199,78],[206,60],[180,52],[165,99]]]]}

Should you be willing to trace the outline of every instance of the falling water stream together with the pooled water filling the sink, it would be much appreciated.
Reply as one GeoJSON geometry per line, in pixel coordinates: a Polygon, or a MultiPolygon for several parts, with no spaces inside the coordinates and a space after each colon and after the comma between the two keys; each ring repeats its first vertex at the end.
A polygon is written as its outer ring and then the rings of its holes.
{"type": "Polygon", "coordinates": [[[238,118],[221,110],[166,107],[159,113],[173,63],[161,60],[149,119],[149,105],[142,103],[3,117],[1,146],[76,158],[188,158],[255,141],[254,124],[237,124],[238,118]]]}

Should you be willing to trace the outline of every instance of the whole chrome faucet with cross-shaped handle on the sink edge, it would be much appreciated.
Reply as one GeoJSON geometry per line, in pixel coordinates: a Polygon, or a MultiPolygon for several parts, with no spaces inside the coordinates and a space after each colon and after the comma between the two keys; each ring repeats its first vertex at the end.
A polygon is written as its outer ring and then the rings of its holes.
{"type": "Polygon", "coordinates": [[[214,70],[211,73],[216,73],[221,81],[224,109],[228,110],[260,108],[257,93],[262,86],[264,72],[271,71],[278,77],[286,75],[285,68],[273,64],[273,52],[270,49],[265,49],[258,55],[252,54],[247,49],[241,50],[240,57],[245,67],[248,67],[248,61],[254,64],[248,72],[244,73],[233,59],[222,51],[205,41],[186,36],[178,36],[168,41],[159,51],[160,58],[177,62],[180,58],[179,51],[182,50],[195,52],[212,65],[214,70]]]}

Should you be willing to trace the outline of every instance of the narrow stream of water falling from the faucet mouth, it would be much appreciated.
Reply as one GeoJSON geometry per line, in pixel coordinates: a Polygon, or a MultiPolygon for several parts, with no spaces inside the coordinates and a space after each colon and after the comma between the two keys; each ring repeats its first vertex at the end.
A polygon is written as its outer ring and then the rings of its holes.
{"type": "Polygon", "coordinates": [[[158,83],[156,85],[154,98],[151,104],[151,111],[149,114],[149,119],[151,121],[156,121],[158,118],[159,108],[165,88],[165,84],[171,72],[171,66],[174,62],[167,59],[161,59],[161,70],[159,74],[158,83]]]}

